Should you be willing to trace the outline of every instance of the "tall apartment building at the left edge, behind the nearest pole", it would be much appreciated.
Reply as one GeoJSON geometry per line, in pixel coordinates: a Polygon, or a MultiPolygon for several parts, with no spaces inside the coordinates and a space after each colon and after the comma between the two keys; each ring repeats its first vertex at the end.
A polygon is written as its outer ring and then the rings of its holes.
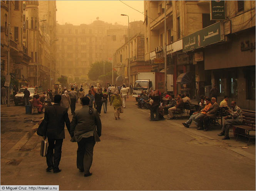
{"type": "MultiPolygon", "coordinates": [[[[28,83],[27,71],[31,59],[27,48],[23,46],[22,20],[22,1],[1,1],[1,77],[5,77],[7,74],[9,35],[10,74],[12,78],[18,81],[18,87],[28,83]],[[10,34],[8,34],[8,23],[10,23],[10,34]]],[[[12,85],[10,84],[10,86],[12,85]]]]}

